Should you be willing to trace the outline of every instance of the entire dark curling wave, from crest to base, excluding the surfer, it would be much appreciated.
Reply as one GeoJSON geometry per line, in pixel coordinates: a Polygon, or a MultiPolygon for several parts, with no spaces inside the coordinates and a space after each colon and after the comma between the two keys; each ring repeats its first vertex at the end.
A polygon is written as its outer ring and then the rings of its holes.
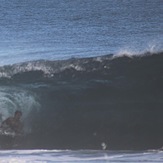
{"type": "MultiPolygon", "coordinates": [[[[163,53],[0,67],[1,121],[22,110],[19,148],[163,145],[163,53]]],[[[16,148],[16,147],[13,147],[16,148]]]]}

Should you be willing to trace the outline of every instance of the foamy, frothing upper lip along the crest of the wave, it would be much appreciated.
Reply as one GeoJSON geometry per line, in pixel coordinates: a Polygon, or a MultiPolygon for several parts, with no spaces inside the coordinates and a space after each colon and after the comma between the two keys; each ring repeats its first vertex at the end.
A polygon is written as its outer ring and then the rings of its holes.
{"type": "MultiPolygon", "coordinates": [[[[146,52],[143,54],[134,54],[123,52],[115,55],[105,55],[100,57],[92,58],[74,58],[68,60],[60,61],[47,61],[47,60],[38,60],[38,61],[29,61],[19,64],[13,64],[8,66],[0,67],[0,78],[12,78],[17,75],[22,74],[38,74],[38,76],[52,78],[56,74],[65,73],[88,73],[88,72],[98,72],[108,70],[110,65],[114,62],[115,59],[119,58],[119,64],[121,64],[120,58],[145,58],[150,57],[156,58],[156,56],[162,56],[162,52],[159,53],[150,53],[146,52]],[[151,57],[150,57],[151,56],[151,57]]],[[[159,57],[158,57],[159,58],[159,57]]],[[[36,75],[37,76],[37,75],[36,75]]],[[[32,76],[31,76],[32,77],[32,76]]]]}

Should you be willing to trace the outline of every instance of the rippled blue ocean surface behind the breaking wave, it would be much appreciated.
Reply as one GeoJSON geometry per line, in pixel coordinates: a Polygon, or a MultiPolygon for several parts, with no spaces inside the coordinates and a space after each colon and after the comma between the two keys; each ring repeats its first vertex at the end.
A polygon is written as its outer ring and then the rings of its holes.
{"type": "Polygon", "coordinates": [[[162,0],[2,0],[0,65],[160,51],[162,8],[162,0]]]}

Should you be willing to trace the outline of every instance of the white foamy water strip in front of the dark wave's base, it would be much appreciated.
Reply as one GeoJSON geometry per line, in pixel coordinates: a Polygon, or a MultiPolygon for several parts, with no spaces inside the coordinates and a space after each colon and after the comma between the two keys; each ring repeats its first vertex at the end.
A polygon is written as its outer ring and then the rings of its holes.
{"type": "Polygon", "coordinates": [[[161,163],[162,151],[11,150],[1,151],[2,163],[161,163]]]}

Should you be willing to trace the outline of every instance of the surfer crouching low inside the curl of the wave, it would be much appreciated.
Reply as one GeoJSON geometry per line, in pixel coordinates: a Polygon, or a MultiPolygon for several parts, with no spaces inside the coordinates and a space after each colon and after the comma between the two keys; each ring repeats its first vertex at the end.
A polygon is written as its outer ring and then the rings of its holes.
{"type": "Polygon", "coordinates": [[[14,117],[9,117],[2,122],[1,127],[3,129],[6,129],[6,128],[11,129],[16,134],[22,134],[23,125],[22,125],[22,122],[20,120],[21,116],[22,116],[22,112],[17,110],[15,112],[14,117]]]}

